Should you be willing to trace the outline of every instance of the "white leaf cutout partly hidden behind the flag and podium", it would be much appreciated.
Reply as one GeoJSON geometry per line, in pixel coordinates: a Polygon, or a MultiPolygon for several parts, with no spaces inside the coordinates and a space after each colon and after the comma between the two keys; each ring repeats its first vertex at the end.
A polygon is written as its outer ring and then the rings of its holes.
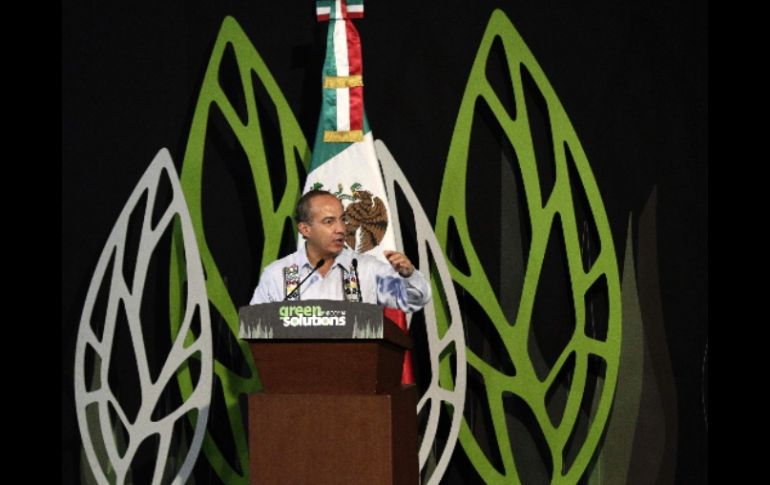
{"type": "MultiPolygon", "coordinates": [[[[385,178],[397,249],[404,250],[402,227],[414,227],[417,239],[417,267],[423,273],[431,275],[433,302],[424,308],[431,377],[428,388],[420,396],[417,414],[427,414],[419,448],[422,481],[427,484],[439,483],[454,453],[465,406],[465,335],[460,306],[444,253],[420,200],[385,143],[377,140],[374,146],[385,178]],[[396,185],[412,209],[411,221],[406,219],[406,214],[399,213],[396,185]],[[402,220],[405,224],[402,224],[402,220]],[[439,289],[441,291],[437,291],[439,289]],[[453,378],[449,378],[451,376],[453,378]],[[447,415],[450,425],[446,439],[439,443],[437,433],[442,411],[447,415]],[[433,455],[434,459],[438,455],[438,458],[435,464],[428,466],[430,455],[433,455]]],[[[416,352],[422,350],[424,349],[415,349],[416,352]]]]}

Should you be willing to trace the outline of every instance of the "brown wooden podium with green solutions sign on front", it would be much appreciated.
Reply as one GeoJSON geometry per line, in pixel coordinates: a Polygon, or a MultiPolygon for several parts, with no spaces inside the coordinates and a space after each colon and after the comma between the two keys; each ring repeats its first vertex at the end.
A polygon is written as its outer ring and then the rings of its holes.
{"type": "Polygon", "coordinates": [[[248,397],[252,484],[419,482],[411,339],[367,303],[242,307],[263,391],[248,397]]]}

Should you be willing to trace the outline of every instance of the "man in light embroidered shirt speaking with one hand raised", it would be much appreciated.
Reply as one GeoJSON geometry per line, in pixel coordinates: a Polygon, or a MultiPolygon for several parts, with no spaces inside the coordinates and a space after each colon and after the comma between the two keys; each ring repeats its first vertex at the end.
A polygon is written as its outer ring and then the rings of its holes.
{"type": "Polygon", "coordinates": [[[430,301],[430,284],[406,255],[385,250],[387,264],[345,246],[345,210],[333,194],[305,193],[297,202],[295,220],[304,247],[265,268],[250,305],[347,300],[415,312],[430,301]]]}

